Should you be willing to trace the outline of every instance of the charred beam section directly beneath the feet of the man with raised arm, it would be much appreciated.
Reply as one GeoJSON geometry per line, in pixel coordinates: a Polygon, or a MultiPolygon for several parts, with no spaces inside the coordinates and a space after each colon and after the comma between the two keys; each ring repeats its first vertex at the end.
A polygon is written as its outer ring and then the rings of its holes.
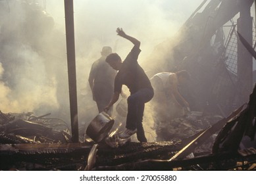
{"type": "Polygon", "coordinates": [[[99,147],[97,151],[97,166],[116,166],[118,164],[128,164],[137,160],[171,158],[183,145],[172,141],[156,143],[128,143],[124,147],[111,149],[109,147],[99,147]]]}

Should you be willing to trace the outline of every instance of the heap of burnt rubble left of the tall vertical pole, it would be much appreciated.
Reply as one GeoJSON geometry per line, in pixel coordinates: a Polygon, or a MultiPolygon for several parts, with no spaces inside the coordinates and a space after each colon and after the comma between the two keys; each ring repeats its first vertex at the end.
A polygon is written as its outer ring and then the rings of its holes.
{"type": "Polygon", "coordinates": [[[58,118],[35,117],[32,112],[5,114],[0,111],[0,144],[71,143],[66,122],[58,118]]]}

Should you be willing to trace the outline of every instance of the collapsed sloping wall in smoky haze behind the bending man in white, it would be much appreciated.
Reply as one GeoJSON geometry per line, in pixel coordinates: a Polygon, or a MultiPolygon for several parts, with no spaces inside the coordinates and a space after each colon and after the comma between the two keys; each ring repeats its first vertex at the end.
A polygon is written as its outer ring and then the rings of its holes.
{"type": "MultiPolygon", "coordinates": [[[[191,110],[226,116],[238,108],[246,99],[242,97],[243,89],[240,89],[242,85],[239,84],[238,74],[230,71],[226,63],[227,59],[234,56],[227,53],[227,34],[224,33],[223,26],[243,7],[250,9],[252,4],[251,0],[236,3],[230,0],[212,0],[205,5],[203,11],[198,12],[197,9],[180,28],[176,37],[155,47],[154,53],[149,57],[155,63],[149,69],[149,76],[158,72],[188,70],[192,82],[181,89],[181,92],[190,103],[191,110]]],[[[201,7],[203,5],[199,8],[201,7]]],[[[233,31],[236,30],[237,27],[233,31]]],[[[236,48],[237,46],[232,52],[237,53],[236,48]]],[[[237,58],[235,62],[237,65],[237,58]]],[[[252,86],[252,83],[249,85],[252,86]]]]}

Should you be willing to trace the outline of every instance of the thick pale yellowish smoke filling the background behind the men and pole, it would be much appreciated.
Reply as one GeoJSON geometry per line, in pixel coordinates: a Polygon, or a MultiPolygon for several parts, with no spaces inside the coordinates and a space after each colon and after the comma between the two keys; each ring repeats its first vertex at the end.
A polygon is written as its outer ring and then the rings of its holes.
{"type": "MultiPolygon", "coordinates": [[[[88,75],[101,48],[113,47],[122,59],[132,48],[129,41],[116,35],[116,28],[140,39],[138,61],[150,76],[151,64],[161,64],[170,47],[156,46],[176,34],[199,3],[74,1],[80,124],[90,122],[97,114],[88,75]],[[155,48],[163,50],[163,55],[155,56],[155,48]],[[148,63],[149,57],[156,60],[148,63]]],[[[38,116],[51,112],[69,121],[64,1],[0,1],[0,66],[2,112],[35,112],[38,116]]],[[[145,112],[144,121],[148,125],[145,131],[151,132],[150,113],[145,112]]]]}

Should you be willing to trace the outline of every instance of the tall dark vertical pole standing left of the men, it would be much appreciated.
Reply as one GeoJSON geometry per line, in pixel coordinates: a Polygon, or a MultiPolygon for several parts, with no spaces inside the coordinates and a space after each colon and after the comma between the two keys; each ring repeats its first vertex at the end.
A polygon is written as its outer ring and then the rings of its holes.
{"type": "Polygon", "coordinates": [[[73,0],[64,0],[66,25],[66,55],[68,61],[68,87],[70,101],[70,119],[72,141],[79,142],[78,135],[78,105],[76,94],[76,55],[74,45],[74,7],[73,0]]]}

